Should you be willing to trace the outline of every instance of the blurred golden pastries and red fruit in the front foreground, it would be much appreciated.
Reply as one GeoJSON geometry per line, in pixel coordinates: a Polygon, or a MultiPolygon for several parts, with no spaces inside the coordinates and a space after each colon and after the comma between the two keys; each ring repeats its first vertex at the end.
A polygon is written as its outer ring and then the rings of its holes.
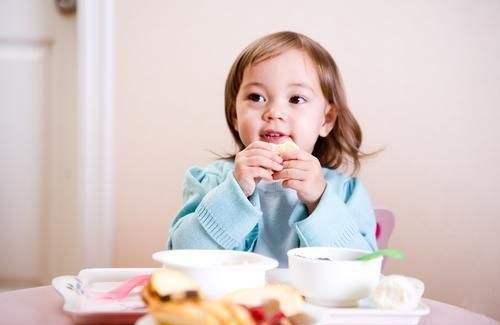
{"type": "Polygon", "coordinates": [[[183,273],[155,271],[142,291],[148,311],[160,325],[302,325],[303,298],[286,285],[241,289],[217,300],[206,299],[183,273]]]}

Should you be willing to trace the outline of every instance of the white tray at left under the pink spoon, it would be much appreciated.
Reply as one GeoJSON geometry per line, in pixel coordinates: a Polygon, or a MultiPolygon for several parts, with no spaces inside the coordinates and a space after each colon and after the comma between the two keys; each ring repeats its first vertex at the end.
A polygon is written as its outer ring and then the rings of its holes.
{"type": "Polygon", "coordinates": [[[107,292],[121,282],[141,274],[151,274],[153,268],[84,269],[77,276],[60,276],[52,286],[64,298],[63,310],[75,323],[133,324],[146,313],[140,297],[141,287],[124,299],[106,301],[89,298],[86,290],[107,292]]]}

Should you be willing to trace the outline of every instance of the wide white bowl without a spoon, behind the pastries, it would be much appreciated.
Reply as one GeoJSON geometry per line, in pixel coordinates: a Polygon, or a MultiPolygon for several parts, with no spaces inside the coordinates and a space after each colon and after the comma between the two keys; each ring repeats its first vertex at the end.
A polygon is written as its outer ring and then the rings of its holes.
{"type": "Polygon", "coordinates": [[[266,271],[278,266],[272,258],[232,250],[176,249],[156,252],[153,259],[190,276],[209,298],[264,285],[266,271]]]}

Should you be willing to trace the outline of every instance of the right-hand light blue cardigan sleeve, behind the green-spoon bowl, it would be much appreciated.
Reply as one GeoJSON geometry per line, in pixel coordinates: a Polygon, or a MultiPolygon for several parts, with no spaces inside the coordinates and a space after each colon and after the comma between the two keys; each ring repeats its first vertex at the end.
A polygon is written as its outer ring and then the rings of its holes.
{"type": "Polygon", "coordinates": [[[338,190],[327,182],[316,209],[294,227],[300,246],[377,249],[373,207],[365,187],[355,178],[338,190]]]}

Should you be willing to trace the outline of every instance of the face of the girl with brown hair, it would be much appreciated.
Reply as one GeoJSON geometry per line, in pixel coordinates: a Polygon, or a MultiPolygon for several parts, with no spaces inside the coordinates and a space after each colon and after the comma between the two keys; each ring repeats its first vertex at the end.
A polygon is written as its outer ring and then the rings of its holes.
{"type": "Polygon", "coordinates": [[[291,49],[245,70],[233,121],[245,147],[291,138],[312,153],[318,136],[327,136],[334,122],[335,110],[304,52],[291,49]]]}

